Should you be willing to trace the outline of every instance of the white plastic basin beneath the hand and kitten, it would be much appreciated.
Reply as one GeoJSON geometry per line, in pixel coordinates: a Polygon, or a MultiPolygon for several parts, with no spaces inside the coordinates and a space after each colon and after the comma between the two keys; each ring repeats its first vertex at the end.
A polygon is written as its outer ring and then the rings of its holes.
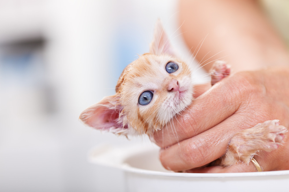
{"type": "Polygon", "coordinates": [[[175,173],[165,170],[158,147],[98,146],[90,162],[122,169],[126,191],[289,191],[289,170],[251,173],[175,173]]]}

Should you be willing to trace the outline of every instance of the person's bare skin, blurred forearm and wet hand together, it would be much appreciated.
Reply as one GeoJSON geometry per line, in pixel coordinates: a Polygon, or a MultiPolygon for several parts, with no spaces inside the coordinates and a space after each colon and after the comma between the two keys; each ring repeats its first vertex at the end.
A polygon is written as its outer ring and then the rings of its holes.
{"type": "MultiPolygon", "coordinates": [[[[181,0],[179,7],[188,47],[197,47],[208,34],[196,58],[210,62],[226,56],[233,74],[206,92],[207,87],[199,86],[195,96],[200,96],[174,119],[174,128],[155,132],[153,139],[162,148],[160,160],[174,171],[256,172],[251,162],[226,168],[198,167],[225,154],[236,132],[273,119],[289,127],[286,45],[256,1],[181,0]]],[[[210,69],[210,64],[204,68],[210,69]]],[[[254,156],[264,171],[289,169],[288,133],[284,141],[277,150],[254,156]]]]}

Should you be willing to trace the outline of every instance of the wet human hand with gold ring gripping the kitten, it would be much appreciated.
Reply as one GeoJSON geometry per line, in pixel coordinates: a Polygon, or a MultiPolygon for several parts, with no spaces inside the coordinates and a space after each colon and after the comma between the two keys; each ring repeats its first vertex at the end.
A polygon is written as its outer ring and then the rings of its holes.
{"type": "MultiPolygon", "coordinates": [[[[230,138],[257,123],[279,119],[289,126],[289,68],[239,72],[196,98],[181,115],[153,140],[162,147],[160,161],[173,171],[255,172],[253,163],[230,167],[206,164],[225,154],[230,138]]],[[[264,171],[289,169],[289,134],[272,152],[261,151],[255,159],[264,171]]]]}

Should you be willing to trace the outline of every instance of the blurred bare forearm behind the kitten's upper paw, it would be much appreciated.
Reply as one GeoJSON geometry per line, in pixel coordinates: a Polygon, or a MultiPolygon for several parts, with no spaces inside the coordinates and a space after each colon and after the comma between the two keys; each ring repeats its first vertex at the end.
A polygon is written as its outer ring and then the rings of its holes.
{"type": "Polygon", "coordinates": [[[257,1],[180,0],[180,23],[188,47],[205,69],[223,59],[233,73],[267,66],[289,65],[288,50],[266,20],[257,1]],[[207,64],[209,63],[209,64],[207,64]]]}

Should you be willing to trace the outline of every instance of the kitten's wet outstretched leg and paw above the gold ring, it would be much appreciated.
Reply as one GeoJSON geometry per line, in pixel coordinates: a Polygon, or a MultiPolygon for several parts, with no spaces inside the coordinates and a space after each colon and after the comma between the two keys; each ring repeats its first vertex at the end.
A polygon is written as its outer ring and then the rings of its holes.
{"type": "Polygon", "coordinates": [[[221,159],[221,165],[230,166],[239,162],[249,164],[258,151],[270,152],[277,149],[286,132],[288,130],[279,124],[279,120],[272,120],[236,133],[231,138],[227,153],[221,159]]]}

